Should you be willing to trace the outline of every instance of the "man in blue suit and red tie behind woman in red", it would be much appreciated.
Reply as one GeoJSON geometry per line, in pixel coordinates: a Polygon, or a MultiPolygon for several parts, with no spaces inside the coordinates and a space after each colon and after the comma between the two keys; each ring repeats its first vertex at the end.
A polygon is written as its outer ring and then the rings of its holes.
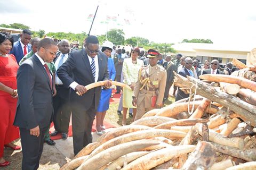
{"type": "Polygon", "coordinates": [[[21,58],[31,51],[31,45],[29,44],[32,32],[25,29],[20,34],[20,40],[16,41],[12,47],[10,54],[13,54],[19,64],[21,58]]]}

